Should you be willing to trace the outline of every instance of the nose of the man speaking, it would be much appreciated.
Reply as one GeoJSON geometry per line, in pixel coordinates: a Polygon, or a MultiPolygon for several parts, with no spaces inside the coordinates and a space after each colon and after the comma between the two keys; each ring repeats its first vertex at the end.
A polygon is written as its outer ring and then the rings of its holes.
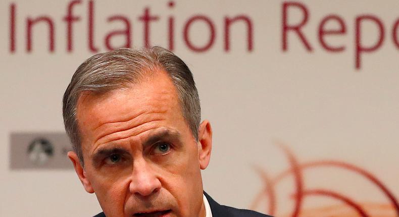
{"type": "Polygon", "coordinates": [[[144,159],[133,165],[132,178],[129,190],[141,196],[151,195],[161,189],[161,182],[155,171],[144,159]]]}

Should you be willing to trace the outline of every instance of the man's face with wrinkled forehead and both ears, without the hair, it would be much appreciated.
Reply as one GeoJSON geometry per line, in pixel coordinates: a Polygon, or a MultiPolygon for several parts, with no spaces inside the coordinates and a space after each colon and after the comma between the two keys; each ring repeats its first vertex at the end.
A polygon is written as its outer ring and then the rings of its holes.
{"type": "Polygon", "coordinates": [[[84,169],[68,156],[107,217],[205,216],[201,169],[212,130],[203,122],[195,141],[165,72],[103,96],[83,94],[77,119],[84,169]]]}

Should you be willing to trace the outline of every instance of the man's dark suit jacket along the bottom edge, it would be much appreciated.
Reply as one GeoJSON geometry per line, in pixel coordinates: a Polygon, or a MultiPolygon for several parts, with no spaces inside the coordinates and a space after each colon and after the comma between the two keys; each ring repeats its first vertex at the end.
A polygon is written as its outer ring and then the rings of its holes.
{"type": "MultiPolygon", "coordinates": [[[[212,199],[207,193],[205,196],[208,199],[209,206],[211,206],[212,217],[272,217],[270,215],[265,215],[256,211],[247,209],[236,209],[229,206],[220,205],[215,200],[212,199]]],[[[104,212],[95,215],[94,217],[106,217],[104,212]]]]}

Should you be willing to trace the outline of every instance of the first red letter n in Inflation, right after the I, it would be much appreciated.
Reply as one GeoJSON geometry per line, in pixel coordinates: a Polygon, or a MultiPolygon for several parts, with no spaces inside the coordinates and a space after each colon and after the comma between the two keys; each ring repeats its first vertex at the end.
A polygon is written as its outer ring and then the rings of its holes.
{"type": "Polygon", "coordinates": [[[26,20],[26,50],[30,52],[32,50],[32,26],[38,22],[46,22],[48,25],[48,50],[54,51],[54,23],[49,17],[38,17],[36,19],[28,18],[26,20]]]}

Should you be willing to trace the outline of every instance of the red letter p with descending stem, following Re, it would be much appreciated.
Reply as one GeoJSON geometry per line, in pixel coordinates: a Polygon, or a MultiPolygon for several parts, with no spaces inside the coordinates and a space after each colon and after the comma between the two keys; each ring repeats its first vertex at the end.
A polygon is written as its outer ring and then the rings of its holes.
{"type": "Polygon", "coordinates": [[[362,52],[372,52],[376,49],[378,49],[381,45],[382,42],[384,41],[384,26],[382,22],[377,18],[372,15],[363,15],[359,16],[356,18],[356,24],[355,24],[355,44],[356,44],[356,51],[355,51],[355,59],[356,59],[356,69],[360,69],[361,67],[361,60],[360,56],[362,52]],[[362,22],[363,21],[372,21],[378,26],[379,30],[379,39],[376,44],[365,47],[362,45],[362,40],[361,40],[361,34],[362,34],[362,22]]]}

